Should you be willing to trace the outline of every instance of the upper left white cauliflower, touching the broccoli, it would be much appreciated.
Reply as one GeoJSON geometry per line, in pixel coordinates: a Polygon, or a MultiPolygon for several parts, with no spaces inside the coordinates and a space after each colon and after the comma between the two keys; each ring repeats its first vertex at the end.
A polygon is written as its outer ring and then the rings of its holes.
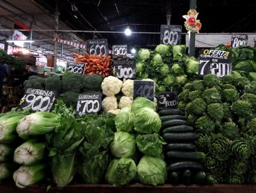
{"type": "Polygon", "coordinates": [[[106,96],[114,96],[118,94],[122,88],[122,81],[117,77],[106,77],[101,83],[102,93],[106,96]]]}

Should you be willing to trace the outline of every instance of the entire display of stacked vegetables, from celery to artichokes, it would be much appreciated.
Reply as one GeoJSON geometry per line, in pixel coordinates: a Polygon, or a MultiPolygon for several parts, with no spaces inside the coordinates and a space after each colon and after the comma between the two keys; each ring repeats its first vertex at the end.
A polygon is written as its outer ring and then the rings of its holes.
{"type": "Polygon", "coordinates": [[[55,103],[49,112],[0,114],[0,182],[255,184],[256,51],[214,49],[232,52],[231,75],[199,78],[199,61],[185,55],[185,45],[138,52],[136,79],[154,81],[155,96],[175,91],[177,108],[134,99],[134,80],[107,74],[110,57],[77,55],[92,63],[85,74],[30,77],[24,89],[55,91],[55,103]],[[78,96],[90,92],[102,97],[101,109],[77,114],[78,96]]]}

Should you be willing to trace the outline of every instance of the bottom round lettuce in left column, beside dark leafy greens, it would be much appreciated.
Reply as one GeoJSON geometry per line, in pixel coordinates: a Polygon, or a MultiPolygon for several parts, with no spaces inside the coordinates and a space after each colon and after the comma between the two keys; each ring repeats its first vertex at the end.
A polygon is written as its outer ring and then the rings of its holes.
{"type": "Polygon", "coordinates": [[[112,185],[128,185],[136,179],[137,167],[133,159],[113,159],[106,173],[106,180],[112,185]]]}

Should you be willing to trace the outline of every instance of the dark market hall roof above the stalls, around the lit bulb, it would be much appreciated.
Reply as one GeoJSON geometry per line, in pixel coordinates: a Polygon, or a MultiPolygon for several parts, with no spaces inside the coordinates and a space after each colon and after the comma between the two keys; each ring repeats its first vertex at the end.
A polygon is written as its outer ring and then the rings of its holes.
{"type": "MultiPolygon", "coordinates": [[[[59,37],[84,43],[86,39],[108,39],[109,45],[127,44],[131,47],[146,48],[159,43],[160,26],[167,24],[170,10],[170,24],[181,25],[190,8],[188,0],[145,1],[145,0],[3,0],[0,5],[1,27],[13,29],[14,19],[32,24],[33,30],[54,30],[55,6],[60,10],[60,30],[83,30],[90,32],[60,32],[59,37]],[[125,28],[134,32],[151,34],[132,34],[126,37],[125,28]],[[91,32],[104,31],[104,32],[91,32]]],[[[256,32],[256,4],[249,0],[197,1],[198,19],[202,23],[201,33],[256,32]]],[[[186,33],[183,28],[183,33],[186,33]]],[[[9,34],[3,32],[4,37],[9,34]]],[[[53,52],[53,31],[33,32],[33,39],[42,40],[33,44],[44,51],[53,52]]],[[[185,43],[185,37],[182,39],[185,43]]],[[[33,48],[34,48],[33,47],[33,48]]],[[[65,45],[64,54],[77,52],[65,45]]]]}

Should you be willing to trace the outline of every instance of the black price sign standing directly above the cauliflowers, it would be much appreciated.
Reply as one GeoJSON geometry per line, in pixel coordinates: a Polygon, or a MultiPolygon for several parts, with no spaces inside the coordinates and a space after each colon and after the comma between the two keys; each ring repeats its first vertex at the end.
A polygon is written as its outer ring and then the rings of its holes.
{"type": "Polygon", "coordinates": [[[113,61],[113,77],[118,77],[118,79],[135,79],[136,61],[135,60],[113,61]]]}

